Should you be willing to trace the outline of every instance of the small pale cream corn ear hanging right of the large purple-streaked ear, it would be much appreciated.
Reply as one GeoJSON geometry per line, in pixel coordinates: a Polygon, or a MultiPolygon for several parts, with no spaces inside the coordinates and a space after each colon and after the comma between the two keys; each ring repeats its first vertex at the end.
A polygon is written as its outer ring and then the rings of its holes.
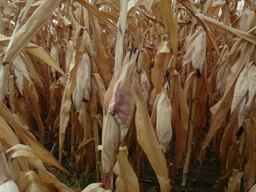
{"type": "Polygon", "coordinates": [[[170,106],[170,100],[167,95],[167,90],[164,90],[158,98],[157,106],[157,135],[158,141],[164,153],[166,153],[166,147],[169,145],[173,135],[171,126],[172,109],[170,106]]]}

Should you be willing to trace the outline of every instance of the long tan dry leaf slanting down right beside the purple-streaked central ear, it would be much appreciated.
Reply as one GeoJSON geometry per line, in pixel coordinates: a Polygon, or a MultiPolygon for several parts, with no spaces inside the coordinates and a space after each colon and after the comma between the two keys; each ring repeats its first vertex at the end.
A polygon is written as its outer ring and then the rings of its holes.
{"type": "Polygon", "coordinates": [[[157,175],[161,191],[170,191],[170,180],[168,178],[166,160],[158,144],[157,137],[154,133],[154,127],[150,121],[147,112],[146,102],[143,98],[142,90],[135,83],[135,105],[137,106],[135,114],[135,124],[137,130],[137,139],[142,150],[145,152],[151,166],[157,175]]]}

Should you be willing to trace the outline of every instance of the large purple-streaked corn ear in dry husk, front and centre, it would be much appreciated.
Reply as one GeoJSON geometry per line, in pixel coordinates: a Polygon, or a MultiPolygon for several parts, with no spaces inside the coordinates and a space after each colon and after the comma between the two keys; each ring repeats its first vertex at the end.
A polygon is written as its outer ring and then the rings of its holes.
{"type": "Polygon", "coordinates": [[[127,54],[124,69],[114,84],[106,118],[103,120],[105,126],[103,125],[102,132],[102,170],[105,176],[103,186],[107,189],[111,188],[110,180],[119,142],[126,137],[134,113],[135,62],[138,50],[131,55],[130,61],[129,56],[130,53],[127,54]]]}

